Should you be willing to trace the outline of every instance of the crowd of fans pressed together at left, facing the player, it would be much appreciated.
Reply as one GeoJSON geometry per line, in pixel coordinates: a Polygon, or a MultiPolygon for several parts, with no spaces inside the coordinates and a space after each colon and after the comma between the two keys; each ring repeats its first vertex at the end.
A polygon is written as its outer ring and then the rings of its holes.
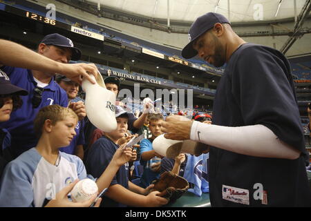
{"type": "MultiPolygon", "coordinates": [[[[77,180],[86,178],[96,181],[99,192],[108,188],[95,206],[167,204],[151,191],[151,182],[164,171],[182,175],[187,154],[167,159],[153,150],[164,116],[151,99],[137,117],[117,102],[117,129],[106,133],[90,122],[77,99],[81,76],[95,84],[89,75],[97,76],[97,68],[68,64],[81,57],[70,39],[47,35],[37,52],[5,40],[0,48],[2,55],[8,48],[23,55],[0,57],[0,206],[90,206],[96,196],[84,203],[67,197],[77,180]],[[125,147],[141,134],[144,140],[125,147]],[[136,184],[133,162],[143,167],[136,184]]],[[[106,77],[104,83],[117,96],[120,80],[106,77]]],[[[211,116],[194,113],[193,119],[210,122],[211,116]]]]}

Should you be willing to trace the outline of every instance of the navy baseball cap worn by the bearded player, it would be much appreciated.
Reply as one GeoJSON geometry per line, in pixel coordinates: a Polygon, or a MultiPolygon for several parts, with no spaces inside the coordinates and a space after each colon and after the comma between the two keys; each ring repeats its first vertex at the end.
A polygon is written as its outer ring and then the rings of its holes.
{"type": "Polygon", "coordinates": [[[228,19],[226,19],[223,15],[218,13],[208,12],[205,15],[202,15],[192,23],[188,37],[189,43],[185,48],[182,49],[182,57],[185,59],[189,59],[198,54],[196,50],[193,48],[194,41],[198,39],[201,35],[203,35],[207,30],[214,27],[216,23],[230,23],[228,19]]]}

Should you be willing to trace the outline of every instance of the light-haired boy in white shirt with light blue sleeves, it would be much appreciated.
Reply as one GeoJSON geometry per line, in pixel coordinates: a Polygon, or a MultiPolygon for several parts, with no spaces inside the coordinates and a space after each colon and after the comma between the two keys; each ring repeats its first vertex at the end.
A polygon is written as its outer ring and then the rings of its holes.
{"type": "MultiPolygon", "coordinates": [[[[39,142],[6,166],[1,178],[0,206],[45,206],[68,184],[88,178],[79,157],[59,151],[73,139],[77,120],[70,108],[58,105],[41,108],[35,118],[39,142]]],[[[96,180],[99,192],[109,186],[119,167],[131,159],[131,148],[122,147],[96,180]]]]}

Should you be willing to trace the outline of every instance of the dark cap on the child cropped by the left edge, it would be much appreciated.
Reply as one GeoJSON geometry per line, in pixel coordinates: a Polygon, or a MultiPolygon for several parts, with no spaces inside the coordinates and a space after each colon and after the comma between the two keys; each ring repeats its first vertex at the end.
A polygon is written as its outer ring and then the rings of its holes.
{"type": "Polygon", "coordinates": [[[28,95],[28,91],[11,84],[10,78],[0,70],[0,95],[28,95]]]}

